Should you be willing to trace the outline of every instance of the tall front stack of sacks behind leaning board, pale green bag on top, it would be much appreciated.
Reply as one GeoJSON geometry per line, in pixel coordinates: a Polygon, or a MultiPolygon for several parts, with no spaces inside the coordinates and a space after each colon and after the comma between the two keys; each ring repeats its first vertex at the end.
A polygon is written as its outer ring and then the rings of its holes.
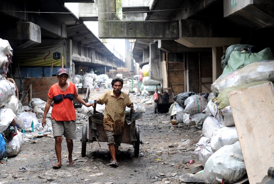
{"type": "Polygon", "coordinates": [[[212,84],[211,89],[216,97],[209,101],[204,111],[209,116],[202,125],[203,135],[209,140],[201,139],[203,143],[198,144],[195,150],[202,163],[207,160],[203,175],[205,183],[235,182],[246,174],[227,92],[273,82],[274,60],[260,61],[264,59],[273,59],[269,48],[259,53],[233,51],[223,75],[212,84]],[[200,150],[205,154],[201,154],[200,150]]]}

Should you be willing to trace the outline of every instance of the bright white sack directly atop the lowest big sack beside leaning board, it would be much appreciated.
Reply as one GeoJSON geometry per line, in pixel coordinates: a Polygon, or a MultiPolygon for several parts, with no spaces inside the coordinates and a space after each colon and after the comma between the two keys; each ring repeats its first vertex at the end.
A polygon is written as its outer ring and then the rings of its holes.
{"type": "Polygon", "coordinates": [[[211,149],[213,152],[216,152],[224,145],[233,144],[238,140],[236,127],[223,127],[217,130],[217,133],[212,136],[211,149]]]}

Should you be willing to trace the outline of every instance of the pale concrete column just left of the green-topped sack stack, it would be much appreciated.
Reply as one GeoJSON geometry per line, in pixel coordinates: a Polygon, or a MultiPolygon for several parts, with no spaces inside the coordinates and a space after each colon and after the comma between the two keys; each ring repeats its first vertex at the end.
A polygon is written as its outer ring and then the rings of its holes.
{"type": "Polygon", "coordinates": [[[212,48],[212,81],[215,82],[223,72],[221,66],[221,57],[223,56],[223,47],[212,48]]]}

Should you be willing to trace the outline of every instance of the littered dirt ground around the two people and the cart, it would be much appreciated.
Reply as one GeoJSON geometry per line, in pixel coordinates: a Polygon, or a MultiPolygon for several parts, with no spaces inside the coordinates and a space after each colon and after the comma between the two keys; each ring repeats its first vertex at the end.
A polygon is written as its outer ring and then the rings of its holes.
{"type": "MultiPolygon", "coordinates": [[[[124,87],[125,88],[125,87],[124,87]]],[[[91,99],[106,90],[92,92],[91,99]]],[[[54,138],[41,137],[22,145],[18,155],[0,164],[0,183],[183,183],[179,179],[194,156],[195,143],[201,131],[186,126],[178,128],[170,123],[167,113],[154,114],[154,104],[145,104],[140,97],[130,93],[132,101],[145,106],[142,120],[137,120],[140,128],[140,156],[134,158],[131,144],[122,144],[118,152],[119,167],[109,166],[111,159],[106,142],[87,144],[87,156],[81,156],[82,126],[88,124],[88,117],[77,110],[77,140],[74,140],[73,158],[76,165],[69,166],[66,142],[62,142],[62,168],[53,169],[57,159],[54,138]],[[190,139],[189,144],[182,143],[190,139]]],[[[50,116],[48,116],[50,118],[50,116]]],[[[42,115],[38,115],[39,121],[42,115]]]]}

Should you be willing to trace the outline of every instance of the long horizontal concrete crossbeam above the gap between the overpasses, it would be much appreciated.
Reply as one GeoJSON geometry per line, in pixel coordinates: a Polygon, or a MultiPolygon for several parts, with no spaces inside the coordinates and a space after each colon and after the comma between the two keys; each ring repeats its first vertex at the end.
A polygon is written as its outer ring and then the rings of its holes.
{"type": "Polygon", "coordinates": [[[100,39],[178,39],[177,21],[99,21],[100,39]]]}

